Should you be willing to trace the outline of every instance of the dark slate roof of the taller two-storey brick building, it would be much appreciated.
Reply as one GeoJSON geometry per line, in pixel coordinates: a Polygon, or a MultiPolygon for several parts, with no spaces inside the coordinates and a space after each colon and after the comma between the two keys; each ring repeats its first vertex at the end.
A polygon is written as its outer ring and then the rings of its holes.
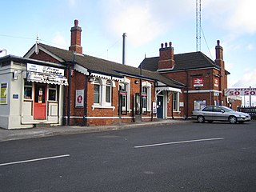
{"type": "MultiPolygon", "coordinates": [[[[142,69],[156,71],[158,70],[159,57],[145,58],[139,67],[142,69]]],[[[171,71],[179,70],[198,70],[202,68],[214,67],[220,69],[213,60],[208,58],[202,52],[191,52],[185,54],[174,54],[174,69],[171,71]]],[[[226,71],[227,74],[230,74],[226,71]]]]}

